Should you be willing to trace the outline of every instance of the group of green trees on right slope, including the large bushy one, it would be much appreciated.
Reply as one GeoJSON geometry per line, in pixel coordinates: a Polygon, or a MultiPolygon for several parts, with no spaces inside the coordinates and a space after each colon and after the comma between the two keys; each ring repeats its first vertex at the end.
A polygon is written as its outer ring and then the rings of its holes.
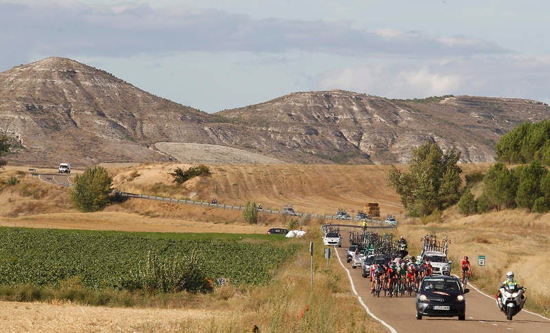
{"type": "Polygon", "coordinates": [[[412,149],[408,172],[391,166],[388,185],[401,197],[408,214],[416,217],[454,204],[464,215],[502,208],[550,211],[550,121],[523,122],[502,136],[495,150],[498,162],[484,174],[467,175],[463,186],[462,170],[456,164],[460,152],[443,152],[436,143],[428,142],[412,149]],[[476,196],[473,189],[481,191],[476,196]]]}

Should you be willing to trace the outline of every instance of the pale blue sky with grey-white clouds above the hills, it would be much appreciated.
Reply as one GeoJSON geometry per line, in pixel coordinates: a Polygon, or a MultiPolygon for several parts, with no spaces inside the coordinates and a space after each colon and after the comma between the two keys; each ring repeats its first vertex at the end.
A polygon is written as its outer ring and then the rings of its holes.
{"type": "Polygon", "coordinates": [[[547,0],[0,0],[0,72],[48,56],[214,113],[292,92],[550,103],[547,0]]]}

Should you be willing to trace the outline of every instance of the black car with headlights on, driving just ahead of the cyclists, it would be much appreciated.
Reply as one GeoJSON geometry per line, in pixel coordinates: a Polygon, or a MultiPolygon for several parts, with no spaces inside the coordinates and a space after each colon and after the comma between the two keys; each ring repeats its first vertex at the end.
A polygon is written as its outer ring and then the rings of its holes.
{"type": "Polygon", "coordinates": [[[437,275],[425,277],[418,290],[417,319],[422,316],[458,316],[463,321],[466,316],[466,300],[461,281],[457,277],[437,275]]]}

